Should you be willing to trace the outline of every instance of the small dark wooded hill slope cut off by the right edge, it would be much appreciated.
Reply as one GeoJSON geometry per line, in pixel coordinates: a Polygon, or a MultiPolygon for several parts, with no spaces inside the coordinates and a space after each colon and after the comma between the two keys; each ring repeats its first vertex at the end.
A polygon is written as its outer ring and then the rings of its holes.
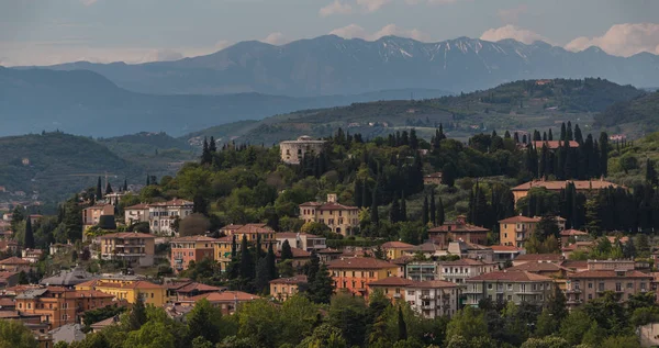
{"type": "Polygon", "coordinates": [[[595,116],[595,122],[607,127],[632,123],[643,127],[644,132],[658,131],[659,92],[617,102],[595,116]]]}

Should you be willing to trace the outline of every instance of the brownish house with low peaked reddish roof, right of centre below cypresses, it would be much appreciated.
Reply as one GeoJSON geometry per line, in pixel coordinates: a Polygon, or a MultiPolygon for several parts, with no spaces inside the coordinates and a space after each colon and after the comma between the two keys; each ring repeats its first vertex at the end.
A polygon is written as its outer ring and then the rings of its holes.
{"type": "Polygon", "coordinates": [[[431,228],[428,238],[446,248],[450,242],[463,240],[472,244],[484,245],[488,243],[490,229],[467,223],[465,215],[459,215],[456,221],[445,222],[444,225],[431,228]]]}

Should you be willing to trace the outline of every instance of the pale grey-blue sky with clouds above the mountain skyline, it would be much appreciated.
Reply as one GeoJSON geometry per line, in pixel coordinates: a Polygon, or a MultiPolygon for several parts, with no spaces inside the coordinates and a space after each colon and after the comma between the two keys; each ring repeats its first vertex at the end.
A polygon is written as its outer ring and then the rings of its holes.
{"type": "Polygon", "coordinates": [[[659,55],[659,0],[0,0],[0,65],[145,63],[335,34],[659,55]]]}

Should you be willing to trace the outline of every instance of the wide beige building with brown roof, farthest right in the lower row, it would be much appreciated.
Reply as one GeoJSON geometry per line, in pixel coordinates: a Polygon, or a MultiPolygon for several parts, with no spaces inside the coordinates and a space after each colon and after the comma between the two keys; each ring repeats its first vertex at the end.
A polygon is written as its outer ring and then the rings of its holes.
{"type": "Polygon", "coordinates": [[[652,274],[637,270],[587,270],[568,274],[567,304],[574,307],[597,299],[605,291],[615,292],[621,301],[632,295],[651,291],[652,274]]]}

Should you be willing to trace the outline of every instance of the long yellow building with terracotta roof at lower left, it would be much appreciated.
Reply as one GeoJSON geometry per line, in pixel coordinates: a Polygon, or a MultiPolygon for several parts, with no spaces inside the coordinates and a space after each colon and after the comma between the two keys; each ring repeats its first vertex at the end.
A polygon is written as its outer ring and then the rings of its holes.
{"type": "Polygon", "coordinates": [[[107,277],[76,285],[76,290],[96,290],[114,295],[118,300],[136,303],[138,298],[145,304],[161,306],[167,302],[167,289],[135,277],[107,277]]]}

